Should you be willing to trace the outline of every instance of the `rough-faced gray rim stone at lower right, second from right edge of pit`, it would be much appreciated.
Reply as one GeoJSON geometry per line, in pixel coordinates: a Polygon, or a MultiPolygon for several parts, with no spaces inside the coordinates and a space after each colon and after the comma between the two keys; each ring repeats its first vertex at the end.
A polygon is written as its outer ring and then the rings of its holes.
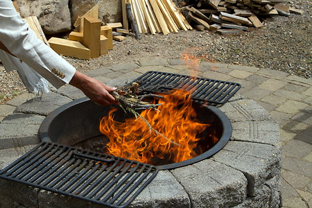
{"type": "Polygon", "coordinates": [[[244,141],[229,141],[213,159],[244,173],[248,179],[248,196],[255,196],[267,178],[279,174],[281,166],[278,147],[244,141]]]}

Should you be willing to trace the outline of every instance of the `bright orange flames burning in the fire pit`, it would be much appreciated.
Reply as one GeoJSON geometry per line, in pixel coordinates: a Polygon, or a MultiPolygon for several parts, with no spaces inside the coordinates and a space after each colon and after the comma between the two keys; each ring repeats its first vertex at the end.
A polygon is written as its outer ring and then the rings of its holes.
{"type": "Polygon", "coordinates": [[[114,112],[101,120],[100,130],[110,141],[107,150],[111,155],[153,164],[155,159],[182,162],[196,157],[198,134],[209,124],[196,120],[191,92],[175,89],[159,99],[163,103],[156,110],[144,110],[140,117],[114,121],[114,112]]]}

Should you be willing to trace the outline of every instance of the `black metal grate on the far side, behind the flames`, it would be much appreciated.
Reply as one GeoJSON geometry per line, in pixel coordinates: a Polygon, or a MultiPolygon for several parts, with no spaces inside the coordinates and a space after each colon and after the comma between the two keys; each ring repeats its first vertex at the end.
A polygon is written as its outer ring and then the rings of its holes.
{"type": "Polygon", "coordinates": [[[148,71],[132,83],[139,83],[143,93],[164,93],[171,89],[194,90],[191,95],[194,101],[214,104],[226,103],[241,88],[239,83],[161,71],[148,71]]]}

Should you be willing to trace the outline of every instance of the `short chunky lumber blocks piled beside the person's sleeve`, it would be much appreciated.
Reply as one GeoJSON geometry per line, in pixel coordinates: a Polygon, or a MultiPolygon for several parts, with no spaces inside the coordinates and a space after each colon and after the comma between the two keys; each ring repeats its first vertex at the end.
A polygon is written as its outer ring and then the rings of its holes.
{"type": "Polygon", "coordinates": [[[113,49],[112,26],[103,25],[98,19],[98,5],[78,17],[73,24],[75,31],[68,39],[51,37],[49,44],[59,54],[89,60],[105,55],[113,49]]]}

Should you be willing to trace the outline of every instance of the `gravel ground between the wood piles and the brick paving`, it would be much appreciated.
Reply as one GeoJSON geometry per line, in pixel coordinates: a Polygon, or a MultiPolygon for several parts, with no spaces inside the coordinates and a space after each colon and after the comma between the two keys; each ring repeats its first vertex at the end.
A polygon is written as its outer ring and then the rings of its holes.
{"type": "MultiPolygon", "coordinates": [[[[187,53],[200,60],[268,68],[312,78],[312,3],[305,0],[289,3],[304,13],[289,17],[276,15],[266,19],[263,28],[250,28],[240,34],[218,35],[193,30],[169,35],[142,35],[141,40],[130,35],[123,42],[114,42],[114,49],[100,58],[64,58],[79,71],[87,71],[141,58],[181,58],[187,53]]],[[[0,80],[0,103],[26,92],[17,73],[5,73],[1,65],[0,80]]]]}

